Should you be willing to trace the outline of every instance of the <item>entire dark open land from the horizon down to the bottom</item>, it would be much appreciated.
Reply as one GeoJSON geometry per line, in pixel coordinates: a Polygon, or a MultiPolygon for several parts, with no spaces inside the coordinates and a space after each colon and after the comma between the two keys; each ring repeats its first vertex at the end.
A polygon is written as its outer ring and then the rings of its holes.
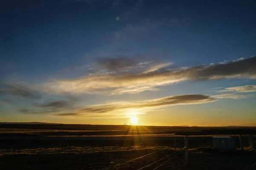
{"type": "MultiPolygon", "coordinates": [[[[171,155],[144,168],[153,170],[178,153],[158,169],[255,170],[256,153],[248,143],[248,134],[256,134],[255,130],[256,127],[0,124],[0,169],[107,170],[114,161],[115,170],[138,170],[171,155]],[[239,150],[237,134],[242,134],[244,151],[239,150]],[[183,135],[189,135],[186,166],[183,135]],[[232,136],[238,150],[221,153],[211,149],[211,136],[216,135],[232,136]]],[[[255,136],[253,139],[256,141],[255,136]]]]}

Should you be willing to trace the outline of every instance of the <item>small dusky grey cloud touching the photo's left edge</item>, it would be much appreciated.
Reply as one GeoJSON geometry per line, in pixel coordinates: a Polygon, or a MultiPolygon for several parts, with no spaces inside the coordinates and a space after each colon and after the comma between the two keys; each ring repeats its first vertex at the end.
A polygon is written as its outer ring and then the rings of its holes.
{"type": "Polygon", "coordinates": [[[17,83],[5,83],[7,88],[0,88],[0,95],[13,95],[26,99],[40,99],[41,94],[31,88],[26,88],[17,83]]]}

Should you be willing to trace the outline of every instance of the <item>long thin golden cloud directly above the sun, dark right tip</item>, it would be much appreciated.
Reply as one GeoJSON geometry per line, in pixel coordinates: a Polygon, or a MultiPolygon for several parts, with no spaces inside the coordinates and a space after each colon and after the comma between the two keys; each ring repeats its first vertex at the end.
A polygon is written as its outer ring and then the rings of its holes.
{"type": "Polygon", "coordinates": [[[80,108],[70,113],[58,113],[56,116],[119,116],[127,117],[144,114],[159,107],[174,105],[193,105],[214,102],[216,99],[202,94],[186,94],[177,96],[167,96],[159,99],[144,100],[137,102],[113,102],[101,105],[90,105],[80,108]]]}

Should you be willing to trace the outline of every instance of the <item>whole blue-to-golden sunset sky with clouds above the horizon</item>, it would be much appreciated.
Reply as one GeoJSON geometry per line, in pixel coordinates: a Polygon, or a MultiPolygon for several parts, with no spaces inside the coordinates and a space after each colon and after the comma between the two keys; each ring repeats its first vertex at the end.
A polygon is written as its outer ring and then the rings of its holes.
{"type": "Polygon", "coordinates": [[[256,126],[255,8],[1,1],[0,122],[256,126]]]}

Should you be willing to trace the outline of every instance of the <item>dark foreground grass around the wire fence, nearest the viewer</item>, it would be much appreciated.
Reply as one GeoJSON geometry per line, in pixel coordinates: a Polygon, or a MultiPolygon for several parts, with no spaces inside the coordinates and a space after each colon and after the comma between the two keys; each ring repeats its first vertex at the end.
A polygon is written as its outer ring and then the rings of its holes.
{"type": "MultiPolygon", "coordinates": [[[[61,153],[50,154],[20,154],[20,155],[5,155],[0,156],[0,169],[2,170],[108,170],[109,163],[114,161],[115,170],[137,170],[156,160],[162,159],[175,151],[167,148],[157,153],[145,156],[125,164],[122,164],[131,159],[144,156],[155,152],[155,148],[95,148],[93,152],[80,152],[81,148],[73,148],[73,153],[66,153],[61,150],[61,153]],[[98,151],[97,151],[98,150],[98,151]]],[[[56,150],[56,149],[55,149],[56,150]]],[[[84,150],[84,149],[82,149],[84,150]]],[[[173,154],[175,155],[175,154],[173,154]]],[[[172,156],[173,156],[172,155],[172,156]]],[[[145,170],[152,170],[159,166],[170,157],[158,161],[145,170]]],[[[160,170],[255,170],[256,153],[250,150],[236,153],[220,153],[210,148],[194,148],[189,151],[189,164],[185,163],[184,151],[170,161],[166,162],[160,170]]]]}

